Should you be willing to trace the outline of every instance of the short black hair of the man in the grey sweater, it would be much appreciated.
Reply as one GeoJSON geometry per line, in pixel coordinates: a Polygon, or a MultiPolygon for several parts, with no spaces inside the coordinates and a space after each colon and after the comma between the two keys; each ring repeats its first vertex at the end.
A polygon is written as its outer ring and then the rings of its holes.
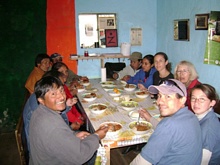
{"type": "Polygon", "coordinates": [[[36,82],[34,87],[34,93],[36,95],[36,98],[42,98],[44,99],[45,94],[53,89],[54,87],[61,87],[63,86],[60,79],[53,77],[53,76],[47,76],[41,78],[39,81],[36,82]]]}

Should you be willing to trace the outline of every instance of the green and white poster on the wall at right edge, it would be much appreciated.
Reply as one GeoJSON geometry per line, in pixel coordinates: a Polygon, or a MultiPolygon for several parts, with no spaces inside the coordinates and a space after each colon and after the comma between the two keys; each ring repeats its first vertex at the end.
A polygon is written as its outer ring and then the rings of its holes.
{"type": "Polygon", "coordinates": [[[220,66],[220,11],[211,11],[204,64],[220,66]]]}

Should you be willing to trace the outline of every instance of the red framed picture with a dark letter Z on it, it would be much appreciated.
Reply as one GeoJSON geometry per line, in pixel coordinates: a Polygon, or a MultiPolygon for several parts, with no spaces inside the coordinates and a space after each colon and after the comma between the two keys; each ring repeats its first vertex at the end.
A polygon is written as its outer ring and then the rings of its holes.
{"type": "Polygon", "coordinates": [[[117,29],[105,29],[105,45],[106,47],[118,47],[117,29]]]}

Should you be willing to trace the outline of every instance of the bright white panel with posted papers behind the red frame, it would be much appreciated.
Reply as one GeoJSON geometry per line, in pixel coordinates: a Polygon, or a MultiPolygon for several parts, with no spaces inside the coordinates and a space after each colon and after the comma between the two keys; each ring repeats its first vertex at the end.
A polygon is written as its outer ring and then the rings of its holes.
{"type": "Polygon", "coordinates": [[[81,48],[105,48],[105,29],[116,29],[116,14],[79,14],[81,48]]]}

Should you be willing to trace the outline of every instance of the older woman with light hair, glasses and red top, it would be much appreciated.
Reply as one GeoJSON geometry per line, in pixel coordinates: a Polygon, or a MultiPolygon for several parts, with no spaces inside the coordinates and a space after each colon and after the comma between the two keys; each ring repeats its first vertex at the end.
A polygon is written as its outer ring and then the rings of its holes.
{"type": "Polygon", "coordinates": [[[181,81],[187,89],[187,100],[186,105],[188,106],[189,110],[192,110],[191,104],[190,104],[190,91],[191,89],[201,84],[198,81],[198,73],[194,67],[194,65],[189,61],[180,61],[174,70],[174,78],[181,81]]]}

